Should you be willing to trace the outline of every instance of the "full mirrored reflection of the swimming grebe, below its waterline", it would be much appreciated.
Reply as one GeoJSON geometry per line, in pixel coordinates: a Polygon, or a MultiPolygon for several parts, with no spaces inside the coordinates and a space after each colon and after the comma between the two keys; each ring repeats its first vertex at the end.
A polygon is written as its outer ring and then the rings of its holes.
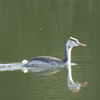
{"type": "Polygon", "coordinates": [[[35,75],[51,75],[51,74],[55,74],[57,72],[59,72],[60,70],[64,69],[65,71],[65,75],[66,75],[66,81],[67,81],[67,87],[69,88],[69,90],[71,92],[79,92],[79,90],[81,89],[81,87],[87,86],[87,82],[74,82],[73,78],[72,78],[72,70],[71,70],[71,65],[68,64],[67,66],[65,66],[64,68],[61,67],[42,67],[42,68],[37,68],[37,67],[30,67],[30,68],[26,68],[23,67],[22,71],[24,73],[27,72],[32,72],[35,75]]]}

